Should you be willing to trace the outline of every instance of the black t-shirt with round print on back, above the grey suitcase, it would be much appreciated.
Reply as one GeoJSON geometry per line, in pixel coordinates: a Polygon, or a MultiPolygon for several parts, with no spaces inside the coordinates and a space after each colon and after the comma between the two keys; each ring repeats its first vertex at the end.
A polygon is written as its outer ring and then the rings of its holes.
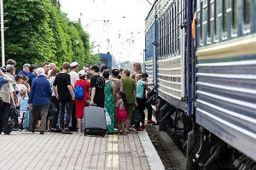
{"type": "Polygon", "coordinates": [[[105,98],[105,80],[100,75],[90,78],[90,88],[96,88],[95,98],[105,98]]]}

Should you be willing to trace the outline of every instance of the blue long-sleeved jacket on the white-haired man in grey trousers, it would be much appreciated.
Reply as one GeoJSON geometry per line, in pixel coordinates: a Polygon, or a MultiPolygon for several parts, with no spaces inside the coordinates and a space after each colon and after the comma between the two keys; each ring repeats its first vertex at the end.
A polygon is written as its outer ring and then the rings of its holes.
{"type": "Polygon", "coordinates": [[[52,90],[49,81],[44,76],[39,76],[32,82],[31,91],[29,93],[28,104],[32,105],[48,105],[52,90]]]}

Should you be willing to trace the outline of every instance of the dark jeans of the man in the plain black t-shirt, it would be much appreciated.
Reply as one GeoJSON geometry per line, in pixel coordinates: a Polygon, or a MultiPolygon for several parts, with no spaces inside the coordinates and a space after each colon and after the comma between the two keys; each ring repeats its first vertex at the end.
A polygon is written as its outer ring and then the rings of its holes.
{"type": "Polygon", "coordinates": [[[62,103],[60,102],[60,109],[61,109],[61,116],[60,116],[60,122],[61,122],[61,129],[64,129],[64,127],[68,127],[68,124],[70,122],[70,117],[72,116],[72,101],[62,103]],[[64,115],[65,115],[65,106],[67,109],[67,116],[66,116],[66,122],[64,124],[64,115]]]}

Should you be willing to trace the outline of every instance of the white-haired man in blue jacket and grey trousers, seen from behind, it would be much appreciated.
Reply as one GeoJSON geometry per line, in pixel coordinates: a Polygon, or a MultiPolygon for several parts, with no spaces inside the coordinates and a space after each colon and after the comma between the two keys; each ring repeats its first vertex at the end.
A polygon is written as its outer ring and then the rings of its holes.
{"type": "Polygon", "coordinates": [[[46,117],[49,109],[49,98],[51,97],[52,90],[49,85],[48,79],[44,76],[44,69],[38,68],[38,78],[32,83],[28,105],[32,104],[32,133],[35,133],[35,129],[38,123],[38,116],[41,116],[41,123],[39,127],[40,134],[44,134],[46,127],[46,117]]]}

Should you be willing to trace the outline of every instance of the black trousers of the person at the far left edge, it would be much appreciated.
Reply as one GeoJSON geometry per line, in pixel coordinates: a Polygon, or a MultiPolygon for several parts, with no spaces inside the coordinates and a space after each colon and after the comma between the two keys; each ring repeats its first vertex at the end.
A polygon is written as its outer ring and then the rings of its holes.
{"type": "Polygon", "coordinates": [[[9,111],[10,104],[3,102],[3,106],[0,107],[0,132],[9,133],[9,111]]]}

